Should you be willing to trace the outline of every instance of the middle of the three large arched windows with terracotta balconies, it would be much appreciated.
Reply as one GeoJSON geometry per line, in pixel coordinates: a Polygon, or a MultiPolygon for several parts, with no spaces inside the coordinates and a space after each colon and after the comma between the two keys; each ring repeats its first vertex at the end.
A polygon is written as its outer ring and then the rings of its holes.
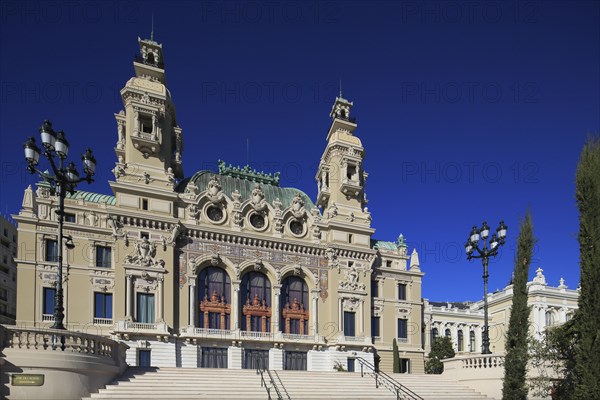
{"type": "Polygon", "coordinates": [[[242,278],[242,329],[271,331],[271,282],[262,272],[252,271],[242,278]]]}

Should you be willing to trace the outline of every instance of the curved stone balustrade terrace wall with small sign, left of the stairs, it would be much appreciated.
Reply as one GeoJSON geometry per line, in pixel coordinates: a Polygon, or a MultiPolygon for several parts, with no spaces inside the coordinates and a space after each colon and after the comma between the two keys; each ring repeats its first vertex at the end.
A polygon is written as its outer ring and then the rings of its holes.
{"type": "Polygon", "coordinates": [[[127,348],[81,332],[0,325],[0,398],[81,399],[123,373],[127,348]],[[24,374],[40,384],[18,385],[24,374]]]}

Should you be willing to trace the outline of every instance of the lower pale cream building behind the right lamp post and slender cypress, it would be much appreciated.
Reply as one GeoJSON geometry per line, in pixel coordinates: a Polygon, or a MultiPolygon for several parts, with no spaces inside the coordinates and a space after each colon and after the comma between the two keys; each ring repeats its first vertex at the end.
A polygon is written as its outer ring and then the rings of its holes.
{"type": "MultiPolygon", "coordinates": [[[[558,286],[546,282],[543,270],[527,283],[530,332],[540,339],[548,326],[560,325],[569,320],[575,310],[579,291],[569,289],[561,278],[558,286]]],[[[488,294],[490,350],[493,354],[504,354],[506,334],[512,307],[512,285],[488,294]]],[[[474,303],[430,303],[424,301],[426,327],[425,349],[429,352],[432,337],[447,335],[452,338],[457,355],[481,353],[483,330],[483,300],[474,303]],[[460,337],[462,336],[462,340],[460,337]]]]}

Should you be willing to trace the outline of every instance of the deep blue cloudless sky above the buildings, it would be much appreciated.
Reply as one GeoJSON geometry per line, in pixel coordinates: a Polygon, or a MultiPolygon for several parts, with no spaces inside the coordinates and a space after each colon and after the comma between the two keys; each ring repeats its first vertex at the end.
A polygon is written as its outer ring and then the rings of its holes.
{"type": "Polygon", "coordinates": [[[421,255],[423,295],[481,298],[474,224],[509,226],[490,288],[513,269],[531,208],[539,266],[579,280],[574,175],[600,127],[598,2],[48,2],[0,5],[0,210],[35,179],[22,143],[50,118],[74,154],[99,162],[110,193],[118,91],[137,37],[164,46],[184,132],[186,175],[217,159],[281,170],[316,196],[314,174],[343,81],[367,151],[375,238],[403,233],[421,255]]]}

